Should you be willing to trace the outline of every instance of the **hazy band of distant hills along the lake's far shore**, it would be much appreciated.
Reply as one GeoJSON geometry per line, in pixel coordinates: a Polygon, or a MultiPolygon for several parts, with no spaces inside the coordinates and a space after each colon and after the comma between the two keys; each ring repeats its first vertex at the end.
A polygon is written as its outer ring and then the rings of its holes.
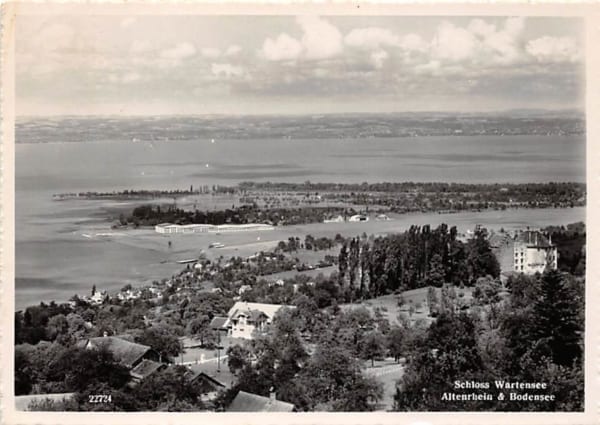
{"type": "Polygon", "coordinates": [[[516,109],[459,114],[407,112],[303,116],[22,117],[17,119],[15,130],[17,143],[575,135],[585,133],[585,116],[577,110],[516,109]]]}

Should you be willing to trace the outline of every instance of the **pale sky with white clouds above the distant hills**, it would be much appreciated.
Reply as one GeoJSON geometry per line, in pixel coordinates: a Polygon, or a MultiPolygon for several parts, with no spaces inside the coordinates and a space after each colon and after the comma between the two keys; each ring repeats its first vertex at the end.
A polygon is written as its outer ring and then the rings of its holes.
{"type": "Polygon", "coordinates": [[[16,112],[584,107],[579,18],[22,15],[16,112]]]}

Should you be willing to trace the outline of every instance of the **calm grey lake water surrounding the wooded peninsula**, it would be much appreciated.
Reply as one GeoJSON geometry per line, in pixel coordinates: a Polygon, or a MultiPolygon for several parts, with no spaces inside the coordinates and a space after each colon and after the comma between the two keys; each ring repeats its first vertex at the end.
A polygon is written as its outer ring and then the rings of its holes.
{"type": "MultiPolygon", "coordinates": [[[[128,282],[168,277],[181,268],[174,260],[195,256],[209,243],[186,238],[168,250],[165,241],[157,243],[160,238],[151,232],[88,238],[84,235],[110,232],[110,223],[99,219],[105,203],[56,202],[53,194],[184,189],[249,180],[584,182],[585,139],[486,136],[20,143],[16,145],[15,194],[17,307],[40,300],[66,300],[76,292],[87,292],[93,284],[114,290],[128,282]]],[[[584,219],[583,208],[422,214],[402,216],[383,225],[383,230],[402,230],[413,222],[443,221],[466,229],[474,223],[517,228],[584,219]]],[[[329,232],[334,227],[278,229],[264,236],[263,242],[287,234],[329,232]]],[[[236,243],[250,244],[250,238],[256,242],[256,235],[248,234],[236,243]]]]}

